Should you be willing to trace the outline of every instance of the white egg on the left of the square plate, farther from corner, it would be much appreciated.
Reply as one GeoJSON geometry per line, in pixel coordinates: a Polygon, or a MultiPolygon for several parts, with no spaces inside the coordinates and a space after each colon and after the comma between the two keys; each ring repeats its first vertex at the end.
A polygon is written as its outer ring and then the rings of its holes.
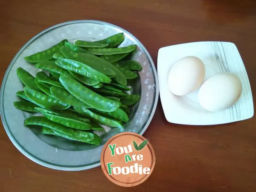
{"type": "Polygon", "coordinates": [[[187,95],[198,89],[204,76],[205,67],[200,58],[184,57],[177,61],[169,72],[169,89],[175,95],[187,95]]]}

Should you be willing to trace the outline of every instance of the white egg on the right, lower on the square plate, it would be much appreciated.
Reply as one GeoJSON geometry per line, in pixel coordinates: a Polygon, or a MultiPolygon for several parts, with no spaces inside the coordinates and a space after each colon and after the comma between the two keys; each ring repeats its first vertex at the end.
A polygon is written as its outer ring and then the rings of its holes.
{"type": "Polygon", "coordinates": [[[241,96],[242,84],[230,73],[218,73],[202,84],[198,100],[208,111],[221,111],[234,105],[241,96]]]}

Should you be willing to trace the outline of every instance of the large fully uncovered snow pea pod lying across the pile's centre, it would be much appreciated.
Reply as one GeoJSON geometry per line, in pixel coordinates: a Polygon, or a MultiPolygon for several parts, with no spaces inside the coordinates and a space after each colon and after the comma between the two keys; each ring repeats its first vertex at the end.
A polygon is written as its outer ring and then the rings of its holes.
{"type": "Polygon", "coordinates": [[[92,108],[96,108],[101,111],[115,111],[119,108],[118,102],[112,101],[111,99],[107,99],[93,92],[76,81],[76,79],[74,79],[69,73],[61,74],[60,81],[68,92],[92,108]]]}

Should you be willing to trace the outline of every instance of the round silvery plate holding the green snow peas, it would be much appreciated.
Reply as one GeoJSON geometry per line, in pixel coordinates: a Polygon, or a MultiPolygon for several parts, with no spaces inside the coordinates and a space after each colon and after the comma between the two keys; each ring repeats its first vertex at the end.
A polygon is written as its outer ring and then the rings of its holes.
{"type": "Polygon", "coordinates": [[[102,146],[113,135],[122,131],[138,134],[145,132],[154,115],[158,94],[157,72],[154,63],[148,51],[137,38],[110,23],[96,20],[77,20],[61,23],[44,30],[20,49],[3,79],[0,92],[0,112],[9,138],[26,157],[52,169],[84,170],[100,165],[102,146]],[[23,90],[24,87],[17,77],[16,69],[22,67],[34,76],[39,71],[33,64],[26,62],[23,59],[24,56],[47,49],[64,38],[72,43],[76,39],[92,41],[119,32],[123,32],[125,35],[125,40],[119,47],[137,44],[137,51],[131,55],[131,59],[139,61],[143,67],[143,70],[139,72],[140,78],[129,81],[129,84],[132,85],[131,93],[140,94],[141,99],[140,102],[130,108],[130,121],[124,125],[124,128],[109,129],[108,133],[103,136],[102,144],[95,146],[46,136],[40,133],[40,127],[27,128],[23,125],[24,119],[32,116],[32,113],[17,110],[13,106],[13,102],[20,100],[15,93],[23,90]]]}

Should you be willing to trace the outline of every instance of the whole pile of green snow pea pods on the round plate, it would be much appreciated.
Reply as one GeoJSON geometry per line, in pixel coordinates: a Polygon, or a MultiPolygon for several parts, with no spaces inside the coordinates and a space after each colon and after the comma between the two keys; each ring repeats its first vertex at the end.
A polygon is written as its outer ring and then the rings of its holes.
{"type": "Polygon", "coordinates": [[[118,33],[100,41],[66,39],[25,57],[41,69],[36,76],[19,67],[17,76],[25,85],[16,93],[22,101],[14,106],[22,111],[41,113],[24,125],[39,125],[42,134],[64,137],[99,145],[96,133],[102,125],[121,127],[128,122],[129,106],[140,95],[129,95],[128,79],[135,79],[142,69],[137,61],[125,60],[136,45],[117,47],[124,41],[118,33]]]}

